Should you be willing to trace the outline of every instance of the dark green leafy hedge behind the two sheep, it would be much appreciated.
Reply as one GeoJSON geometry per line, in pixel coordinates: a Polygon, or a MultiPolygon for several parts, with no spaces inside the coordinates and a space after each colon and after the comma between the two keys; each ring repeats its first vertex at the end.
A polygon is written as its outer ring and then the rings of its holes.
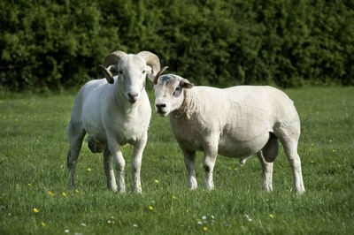
{"type": "Polygon", "coordinates": [[[115,49],[196,84],[354,84],[354,4],[290,0],[1,1],[0,87],[81,86],[115,49]]]}

